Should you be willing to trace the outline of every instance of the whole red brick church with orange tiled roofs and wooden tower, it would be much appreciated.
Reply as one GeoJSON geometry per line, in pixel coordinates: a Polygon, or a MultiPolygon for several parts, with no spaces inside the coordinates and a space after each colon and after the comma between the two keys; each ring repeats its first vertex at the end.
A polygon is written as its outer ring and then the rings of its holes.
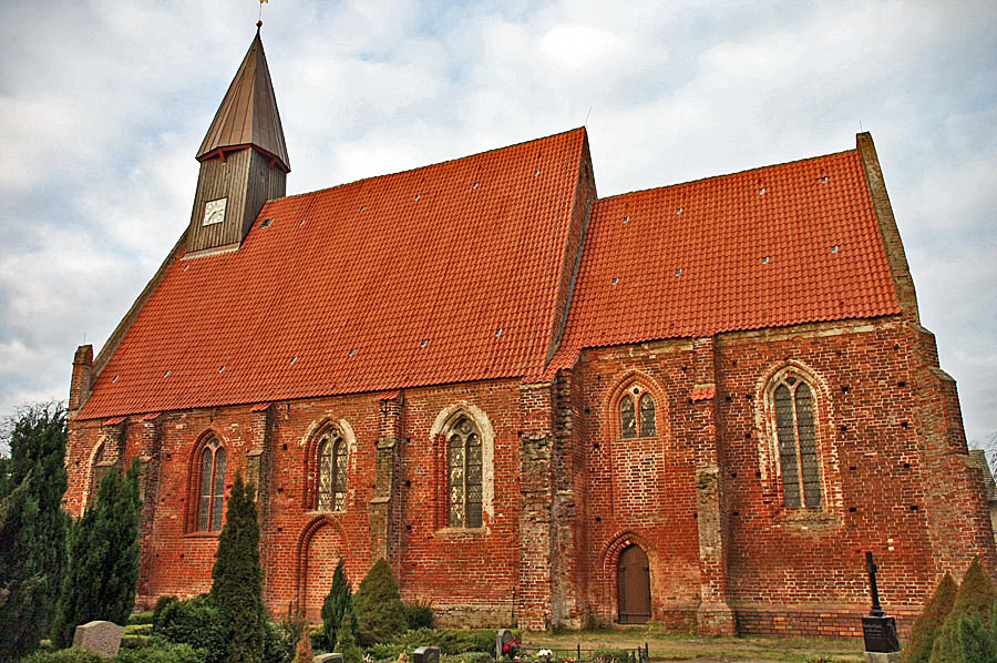
{"type": "Polygon", "coordinates": [[[997,553],[872,137],[843,147],[599,197],[579,128],[288,196],[257,31],[189,224],[76,350],[66,506],[140,463],[143,606],[208,590],[241,473],[274,615],[384,558],[440,623],[854,635],[872,551],[905,630],[997,553]]]}

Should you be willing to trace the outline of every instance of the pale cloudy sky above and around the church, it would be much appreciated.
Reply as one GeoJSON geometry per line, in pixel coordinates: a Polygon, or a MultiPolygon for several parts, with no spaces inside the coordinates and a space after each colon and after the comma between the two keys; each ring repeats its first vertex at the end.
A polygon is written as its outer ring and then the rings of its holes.
{"type": "MultiPolygon", "coordinates": [[[[185,231],[257,0],[0,3],[0,417],[185,231]]],[[[997,434],[997,3],[271,0],[288,194],[589,131],[600,196],[872,132],[967,437],[997,434]]]]}

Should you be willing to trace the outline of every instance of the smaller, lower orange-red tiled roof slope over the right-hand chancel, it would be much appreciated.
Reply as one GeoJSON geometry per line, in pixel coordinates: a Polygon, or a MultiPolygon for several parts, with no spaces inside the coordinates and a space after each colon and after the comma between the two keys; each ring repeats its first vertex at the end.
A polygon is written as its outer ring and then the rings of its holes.
{"type": "Polygon", "coordinates": [[[851,150],[596,202],[547,373],[585,347],[900,312],[851,150]]]}

